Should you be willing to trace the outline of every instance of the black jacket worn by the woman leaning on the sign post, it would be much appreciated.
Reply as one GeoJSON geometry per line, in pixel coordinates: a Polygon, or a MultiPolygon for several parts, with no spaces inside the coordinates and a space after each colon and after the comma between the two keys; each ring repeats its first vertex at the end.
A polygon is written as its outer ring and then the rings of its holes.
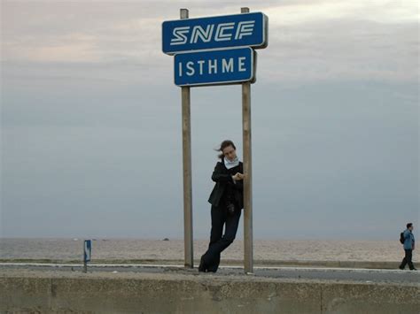
{"type": "MultiPolygon", "coordinates": [[[[238,168],[235,172],[244,173],[244,165],[239,162],[238,168]]],[[[234,168],[235,169],[235,168],[234,168]]],[[[235,174],[235,173],[233,173],[235,174]]],[[[229,173],[229,170],[222,162],[218,162],[214,167],[214,172],[212,174],[212,180],[216,182],[214,185],[213,191],[208,198],[208,202],[214,206],[222,205],[221,200],[222,196],[225,193],[228,185],[230,185],[234,191],[235,205],[239,209],[244,208],[244,182],[243,180],[233,181],[232,175],[229,173]]]]}

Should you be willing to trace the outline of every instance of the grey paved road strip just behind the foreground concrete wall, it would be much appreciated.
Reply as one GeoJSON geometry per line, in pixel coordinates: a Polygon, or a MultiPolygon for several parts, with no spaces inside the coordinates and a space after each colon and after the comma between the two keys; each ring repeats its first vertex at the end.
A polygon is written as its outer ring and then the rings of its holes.
{"type": "MultiPolygon", "coordinates": [[[[0,263],[0,272],[8,269],[45,270],[59,272],[82,272],[82,264],[15,264],[0,263]]],[[[198,274],[197,269],[184,269],[179,265],[158,264],[92,264],[89,272],[149,272],[149,273],[185,273],[198,274]]],[[[214,276],[213,273],[201,273],[214,276]]],[[[217,275],[243,275],[242,267],[222,266],[217,275]]],[[[292,280],[337,280],[360,282],[417,283],[420,287],[420,272],[400,270],[368,270],[343,268],[309,268],[309,267],[254,267],[253,276],[281,278],[292,280]]]]}

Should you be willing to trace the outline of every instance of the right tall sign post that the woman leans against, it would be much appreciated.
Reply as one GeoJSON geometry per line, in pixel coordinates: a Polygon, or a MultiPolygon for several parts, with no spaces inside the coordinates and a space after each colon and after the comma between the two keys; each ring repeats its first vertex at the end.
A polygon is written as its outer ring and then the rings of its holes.
{"type": "MultiPolygon", "coordinates": [[[[249,13],[249,8],[241,8],[249,13]]],[[[251,82],[242,83],[242,142],[244,145],[244,270],[253,273],[253,164],[251,149],[251,82]]]]}

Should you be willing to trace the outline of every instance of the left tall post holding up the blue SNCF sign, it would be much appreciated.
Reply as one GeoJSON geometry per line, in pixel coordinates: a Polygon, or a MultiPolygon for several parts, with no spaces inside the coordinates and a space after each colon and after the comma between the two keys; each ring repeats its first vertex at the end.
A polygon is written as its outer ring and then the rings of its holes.
{"type": "MultiPolygon", "coordinates": [[[[188,19],[188,9],[180,9],[180,18],[188,19]]],[[[183,241],[184,266],[194,267],[192,247],[192,183],[191,183],[191,97],[190,87],[181,88],[183,113],[183,241]]]]}

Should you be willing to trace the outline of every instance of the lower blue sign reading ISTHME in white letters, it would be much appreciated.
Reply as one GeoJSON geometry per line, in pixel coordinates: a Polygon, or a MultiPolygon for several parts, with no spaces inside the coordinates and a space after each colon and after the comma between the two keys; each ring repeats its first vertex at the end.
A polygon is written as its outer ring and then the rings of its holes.
{"type": "Polygon", "coordinates": [[[251,48],[208,50],[175,55],[175,85],[233,84],[254,80],[251,48]]]}

